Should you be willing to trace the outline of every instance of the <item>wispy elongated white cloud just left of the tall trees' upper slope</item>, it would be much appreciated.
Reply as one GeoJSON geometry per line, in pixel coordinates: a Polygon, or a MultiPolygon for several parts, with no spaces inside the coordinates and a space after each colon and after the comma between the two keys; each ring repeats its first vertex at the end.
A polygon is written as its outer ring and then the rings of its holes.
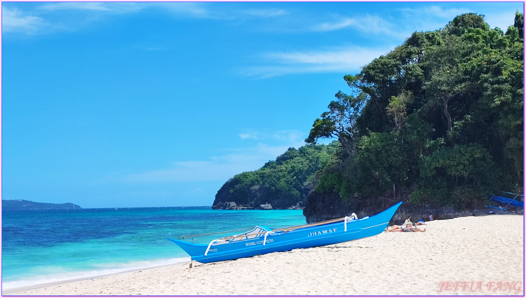
{"type": "Polygon", "coordinates": [[[263,55],[267,60],[264,66],[249,67],[242,71],[242,75],[265,78],[288,74],[356,71],[393,48],[348,47],[318,52],[272,52],[263,55]]]}

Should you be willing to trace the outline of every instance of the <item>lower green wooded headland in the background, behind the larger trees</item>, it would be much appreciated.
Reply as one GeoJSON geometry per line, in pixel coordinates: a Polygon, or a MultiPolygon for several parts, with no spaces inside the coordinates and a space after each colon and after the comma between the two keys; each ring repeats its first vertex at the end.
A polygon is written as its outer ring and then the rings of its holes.
{"type": "Polygon", "coordinates": [[[258,207],[270,203],[273,208],[286,209],[305,201],[315,184],[315,173],[327,166],[337,146],[333,142],[289,148],[259,170],[229,179],[217,192],[214,205],[236,202],[237,205],[258,207]]]}

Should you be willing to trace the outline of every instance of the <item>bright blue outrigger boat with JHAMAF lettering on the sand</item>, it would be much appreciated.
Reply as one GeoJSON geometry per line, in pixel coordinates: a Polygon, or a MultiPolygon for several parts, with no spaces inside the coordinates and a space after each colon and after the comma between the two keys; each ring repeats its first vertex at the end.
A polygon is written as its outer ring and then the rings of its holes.
{"type": "Polygon", "coordinates": [[[401,203],[372,217],[361,219],[353,214],[355,216],[352,218],[345,217],[275,230],[261,225],[239,235],[213,240],[208,245],[169,238],[168,240],[186,251],[191,260],[201,263],[249,258],[259,254],[336,244],[380,234],[401,203]]]}

